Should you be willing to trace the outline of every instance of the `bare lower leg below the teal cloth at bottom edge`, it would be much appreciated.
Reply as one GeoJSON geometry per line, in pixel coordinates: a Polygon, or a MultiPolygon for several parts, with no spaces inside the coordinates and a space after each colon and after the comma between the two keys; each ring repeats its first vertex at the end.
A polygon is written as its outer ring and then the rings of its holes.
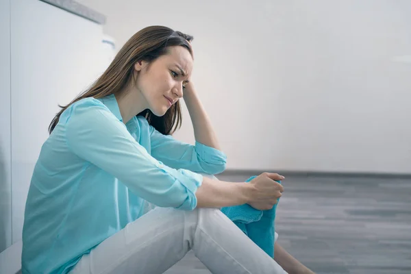
{"type": "Polygon", "coordinates": [[[296,258],[292,257],[292,255],[277,242],[275,242],[274,245],[274,260],[287,271],[288,274],[315,274],[310,271],[307,266],[301,264],[296,258]]]}

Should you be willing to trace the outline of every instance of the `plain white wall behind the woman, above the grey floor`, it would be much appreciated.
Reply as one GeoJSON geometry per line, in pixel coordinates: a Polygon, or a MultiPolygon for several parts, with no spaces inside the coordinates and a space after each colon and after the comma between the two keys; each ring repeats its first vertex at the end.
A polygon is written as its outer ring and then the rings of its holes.
{"type": "Polygon", "coordinates": [[[195,36],[228,168],[411,173],[411,1],[79,2],[119,46],[147,25],[195,36]]]}

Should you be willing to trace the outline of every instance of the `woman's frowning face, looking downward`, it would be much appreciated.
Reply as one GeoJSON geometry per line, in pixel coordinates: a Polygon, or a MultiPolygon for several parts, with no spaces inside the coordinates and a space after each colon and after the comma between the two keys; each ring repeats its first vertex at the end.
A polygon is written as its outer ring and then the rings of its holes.
{"type": "Polygon", "coordinates": [[[141,92],[147,108],[156,116],[163,116],[171,105],[183,97],[183,86],[192,72],[192,56],[182,46],[169,47],[169,53],[153,62],[138,62],[136,88],[141,92]]]}

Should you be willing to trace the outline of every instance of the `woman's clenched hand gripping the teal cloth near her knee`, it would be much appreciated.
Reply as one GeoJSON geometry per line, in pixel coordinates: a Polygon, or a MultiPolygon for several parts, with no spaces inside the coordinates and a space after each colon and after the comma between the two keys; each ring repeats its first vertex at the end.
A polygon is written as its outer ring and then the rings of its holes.
{"type": "Polygon", "coordinates": [[[284,191],[282,184],[277,181],[284,179],[284,176],[277,173],[262,173],[258,177],[252,179],[248,184],[253,188],[248,193],[248,204],[258,210],[271,210],[277,203],[277,199],[281,197],[284,191]]]}

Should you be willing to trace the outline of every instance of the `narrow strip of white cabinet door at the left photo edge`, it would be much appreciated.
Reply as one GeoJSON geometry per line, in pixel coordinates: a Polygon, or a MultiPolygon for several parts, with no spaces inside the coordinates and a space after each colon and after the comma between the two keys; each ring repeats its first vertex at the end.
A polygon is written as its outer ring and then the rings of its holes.
{"type": "MultiPolygon", "coordinates": [[[[12,244],[10,0],[0,1],[0,253],[12,244]]],[[[1,272],[1,271],[0,271],[1,272]]]]}

